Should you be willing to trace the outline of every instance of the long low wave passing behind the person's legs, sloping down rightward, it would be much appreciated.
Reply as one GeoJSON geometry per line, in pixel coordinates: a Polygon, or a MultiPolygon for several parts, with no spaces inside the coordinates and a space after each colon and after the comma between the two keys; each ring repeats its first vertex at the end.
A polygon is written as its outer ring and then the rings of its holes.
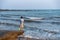
{"type": "MultiPolygon", "coordinates": [[[[19,24],[12,24],[12,23],[4,23],[4,22],[0,22],[0,25],[6,25],[6,26],[15,26],[15,27],[19,27],[19,24]]],[[[38,28],[38,27],[31,27],[31,26],[27,26],[25,25],[25,29],[27,30],[32,30],[32,31],[44,31],[44,32],[48,32],[48,33],[59,33],[57,30],[47,30],[47,29],[41,29],[41,28],[38,28]]]]}

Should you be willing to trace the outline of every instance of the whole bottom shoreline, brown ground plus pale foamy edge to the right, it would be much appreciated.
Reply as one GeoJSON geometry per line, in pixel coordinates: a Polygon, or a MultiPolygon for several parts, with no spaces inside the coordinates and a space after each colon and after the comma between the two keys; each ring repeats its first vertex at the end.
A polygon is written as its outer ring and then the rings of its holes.
{"type": "Polygon", "coordinates": [[[10,30],[0,30],[0,40],[20,40],[21,38],[23,40],[59,40],[60,38],[34,38],[34,37],[28,37],[23,36],[21,37],[20,35],[22,35],[24,33],[24,31],[10,31],[10,30]]]}

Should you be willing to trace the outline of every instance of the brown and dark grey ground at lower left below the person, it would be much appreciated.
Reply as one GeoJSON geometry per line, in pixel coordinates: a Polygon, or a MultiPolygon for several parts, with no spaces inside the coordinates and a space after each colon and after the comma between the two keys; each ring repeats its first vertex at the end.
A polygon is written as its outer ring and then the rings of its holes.
{"type": "Polygon", "coordinates": [[[17,40],[18,36],[23,33],[24,31],[0,30],[0,40],[17,40]]]}

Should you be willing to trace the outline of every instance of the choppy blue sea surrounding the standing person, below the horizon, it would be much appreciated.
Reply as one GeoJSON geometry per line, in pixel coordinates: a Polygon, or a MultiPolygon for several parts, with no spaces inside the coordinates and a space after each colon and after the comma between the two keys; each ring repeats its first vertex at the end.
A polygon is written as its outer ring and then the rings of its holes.
{"type": "Polygon", "coordinates": [[[44,18],[37,22],[25,22],[25,35],[60,37],[60,10],[0,11],[0,30],[18,30],[20,16],[44,18]]]}

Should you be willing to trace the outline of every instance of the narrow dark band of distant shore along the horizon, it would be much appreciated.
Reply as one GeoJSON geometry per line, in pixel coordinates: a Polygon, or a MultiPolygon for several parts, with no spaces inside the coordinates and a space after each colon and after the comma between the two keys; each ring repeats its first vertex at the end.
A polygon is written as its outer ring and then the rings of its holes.
{"type": "Polygon", "coordinates": [[[0,11],[60,11],[60,9],[0,9],[0,11]]]}

